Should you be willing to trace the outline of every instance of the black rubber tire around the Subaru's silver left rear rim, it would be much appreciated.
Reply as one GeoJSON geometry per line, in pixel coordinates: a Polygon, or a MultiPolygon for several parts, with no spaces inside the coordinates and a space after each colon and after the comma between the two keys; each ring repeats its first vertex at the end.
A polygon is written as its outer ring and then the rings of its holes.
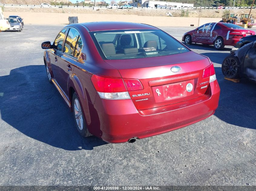
{"type": "MultiPolygon", "coordinates": [[[[88,131],[88,129],[87,129],[87,123],[86,123],[86,119],[85,119],[85,115],[84,115],[84,112],[83,112],[83,111],[81,111],[81,113],[82,113],[83,126],[82,126],[82,129],[79,129],[79,127],[78,127],[78,124],[77,124],[77,121],[76,121],[77,119],[76,119],[76,117],[75,117],[75,107],[74,107],[74,105],[75,105],[75,99],[78,100],[78,102],[79,102],[79,104],[80,104],[80,106],[81,106],[81,102],[80,102],[78,96],[76,95],[76,93],[73,94],[73,98],[72,98],[73,116],[74,116],[74,119],[75,119],[76,128],[77,128],[79,134],[80,134],[82,137],[89,137],[89,136],[91,136],[92,134],[91,134],[91,133],[88,131]]],[[[81,120],[81,119],[80,119],[80,120],[81,120]]]]}

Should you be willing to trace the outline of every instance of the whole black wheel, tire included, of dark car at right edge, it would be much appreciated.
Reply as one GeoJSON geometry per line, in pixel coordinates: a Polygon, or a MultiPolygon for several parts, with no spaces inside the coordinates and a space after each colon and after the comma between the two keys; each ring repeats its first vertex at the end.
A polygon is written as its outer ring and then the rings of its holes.
{"type": "Polygon", "coordinates": [[[240,62],[235,56],[226,57],[221,65],[222,74],[227,78],[239,78],[240,62]]]}

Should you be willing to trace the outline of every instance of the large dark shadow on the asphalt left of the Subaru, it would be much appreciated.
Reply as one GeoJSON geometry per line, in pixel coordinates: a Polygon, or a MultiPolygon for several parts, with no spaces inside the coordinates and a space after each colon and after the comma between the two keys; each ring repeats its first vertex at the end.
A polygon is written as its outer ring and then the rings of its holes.
{"type": "Polygon", "coordinates": [[[12,69],[0,81],[1,118],[23,134],[65,150],[91,150],[107,144],[95,136],[79,135],[73,114],[48,82],[44,65],[12,69]]]}

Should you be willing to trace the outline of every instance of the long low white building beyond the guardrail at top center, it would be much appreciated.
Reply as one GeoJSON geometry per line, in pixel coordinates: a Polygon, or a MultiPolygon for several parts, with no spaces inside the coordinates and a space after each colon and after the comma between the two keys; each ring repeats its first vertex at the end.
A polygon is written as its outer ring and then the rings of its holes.
{"type": "Polygon", "coordinates": [[[133,2],[129,3],[129,5],[133,7],[137,7],[138,3],[140,4],[141,7],[175,7],[175,8],[194,7],[194,4],[189,4],[189,3],[166,2],[166,1],[155,1],[155,0],[132,0],[132,1],[133,2]]]}

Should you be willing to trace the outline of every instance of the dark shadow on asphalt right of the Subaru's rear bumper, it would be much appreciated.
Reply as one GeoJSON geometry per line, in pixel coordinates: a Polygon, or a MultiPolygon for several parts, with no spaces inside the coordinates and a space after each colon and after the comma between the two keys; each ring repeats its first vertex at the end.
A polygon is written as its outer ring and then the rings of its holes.
{"type": "Polygon", "coordinates": [[[221,67],[215,67],[215,72],[221,94],[214,115],[231,125],[256,129],[256,83],[247,79],[241,79],[240,83],[225,80],[221,67]]]}

